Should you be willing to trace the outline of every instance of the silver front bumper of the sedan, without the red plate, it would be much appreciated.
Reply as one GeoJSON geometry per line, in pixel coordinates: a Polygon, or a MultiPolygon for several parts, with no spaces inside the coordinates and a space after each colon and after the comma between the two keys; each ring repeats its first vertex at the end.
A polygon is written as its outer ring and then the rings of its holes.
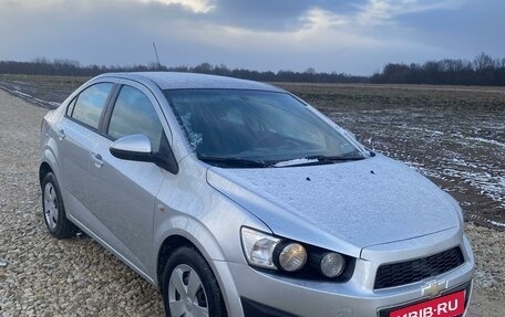
{"type": "MultiPolygon", "coordinates": [[[[447,245],[443,243],[434,247],[443,249],[447,245]]],[[[296,279],[256,271],[245,264],[227,263],[236,292],[233,297],[240,298],[240,306],[244,306],[240,311],[228,311],[228,315],[252,316],[248,311],[254,311],[251,305],[254,308],[254,304],[257,304],[256,307],[266,309],[267,314],[264,316],[382,317],[388,316],[390,310],[430,299],[423,296],[422,288],[433,279],[446,283],[443,290],[445,294],[461,287],[466,288],[468,300],[475,263],[466,239],[463,239],[461,247],[465,262],[457,268],[424,281],[380,290],[373,289],[373,268],[377,264],[372,265],[370,261],[362,258],[357,260],[352,278],[342,284],[296,279]]]]}

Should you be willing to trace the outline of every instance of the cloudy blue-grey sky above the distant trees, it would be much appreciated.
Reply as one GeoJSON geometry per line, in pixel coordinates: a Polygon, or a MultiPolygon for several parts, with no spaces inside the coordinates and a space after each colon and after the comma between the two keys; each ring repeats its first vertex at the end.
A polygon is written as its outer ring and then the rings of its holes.
{"type": "Polygon", "coordinates": [[[504,0],[0,0],[0,60],[369,75],[505,57],[504,0]]]}

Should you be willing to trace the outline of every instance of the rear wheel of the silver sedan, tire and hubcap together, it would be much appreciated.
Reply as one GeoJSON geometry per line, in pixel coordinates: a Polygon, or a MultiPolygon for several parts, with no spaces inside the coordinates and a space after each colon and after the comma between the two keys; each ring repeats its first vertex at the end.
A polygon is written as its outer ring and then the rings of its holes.
{"type": "Polygon", "coordinates": [[[66,219],[60,187],[52,172],[48,172],[42,181],[42,212],[45,226],[54,237],[65,239],[78,233],[78,228],[66,219]]]}

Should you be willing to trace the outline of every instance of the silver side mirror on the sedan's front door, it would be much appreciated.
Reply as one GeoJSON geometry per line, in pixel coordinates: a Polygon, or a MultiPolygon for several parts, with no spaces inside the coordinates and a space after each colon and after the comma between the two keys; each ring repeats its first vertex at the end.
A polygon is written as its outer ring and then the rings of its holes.
{"type": "Polygon", "coordinates": [[[144,135],[130,135],[118,138],[110,147],[113,156],[120,159],[155,162],[150,139],[144,135]]]}

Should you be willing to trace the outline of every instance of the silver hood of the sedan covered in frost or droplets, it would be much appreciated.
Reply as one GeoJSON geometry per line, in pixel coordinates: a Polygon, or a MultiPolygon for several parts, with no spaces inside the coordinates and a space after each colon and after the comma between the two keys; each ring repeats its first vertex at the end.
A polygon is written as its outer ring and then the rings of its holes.
{"type": "Polygon", "coordinates": [[[275,234],[340,252],[457,228],[452,199],[410,167],[377,155],[331,165],[223,169],[207,181],[275,234]]]}

